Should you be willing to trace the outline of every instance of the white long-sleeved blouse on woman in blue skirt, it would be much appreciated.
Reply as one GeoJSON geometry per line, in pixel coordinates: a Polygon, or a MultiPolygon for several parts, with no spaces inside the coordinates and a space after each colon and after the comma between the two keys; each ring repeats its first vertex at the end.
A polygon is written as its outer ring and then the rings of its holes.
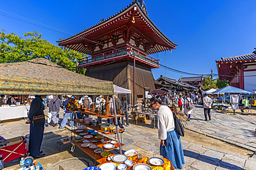
{"type": "Polygon", "coordinates": [[[157,120],[158,138],[165,140],[167,138],[167,131],[172,131],[175,128],[172,110],[165,105],[161,105],[158,109],[157,120]]]}

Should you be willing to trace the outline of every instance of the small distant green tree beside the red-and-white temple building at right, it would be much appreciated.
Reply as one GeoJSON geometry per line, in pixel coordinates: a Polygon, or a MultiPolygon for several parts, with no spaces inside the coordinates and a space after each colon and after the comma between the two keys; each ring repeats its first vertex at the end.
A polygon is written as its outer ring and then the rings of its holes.
{"type": "Polygon", "coordinates": [[[207,76],[205,77],[205,82],[203,83],[203,89],[204,90],[208,90],[208,89],[216,89],[216,88],[223,88],[223,87],[226,87],[230,85],[230,82],[228,81],[219,81],[219,78],[215,78],[213,79],[212,78],[212,81],[211,81],[211,78],[210,76],[207,76]]]}

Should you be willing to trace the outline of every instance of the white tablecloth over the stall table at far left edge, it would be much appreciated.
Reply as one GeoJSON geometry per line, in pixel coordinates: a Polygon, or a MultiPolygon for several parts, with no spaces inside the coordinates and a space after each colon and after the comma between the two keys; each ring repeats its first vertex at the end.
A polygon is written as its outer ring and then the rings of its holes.
{"type": "Polygon", "coordinates": [[[30,105],[17,107],[0,107],[0,120],[28,117],[30,105]]]}

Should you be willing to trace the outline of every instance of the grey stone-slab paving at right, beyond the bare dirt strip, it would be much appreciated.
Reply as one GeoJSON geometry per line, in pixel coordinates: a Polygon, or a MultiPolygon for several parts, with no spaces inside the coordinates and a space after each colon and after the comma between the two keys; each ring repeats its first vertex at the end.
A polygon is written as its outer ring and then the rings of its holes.
{"type": "Polygon", "coordinates": [[[255,117],[233,116],[214,109],[211,109],[211,117],[212,120],[204,121],[203,107],[194,105],[190,121],[184,123],[185,128],[256,152],[255,117]]]}

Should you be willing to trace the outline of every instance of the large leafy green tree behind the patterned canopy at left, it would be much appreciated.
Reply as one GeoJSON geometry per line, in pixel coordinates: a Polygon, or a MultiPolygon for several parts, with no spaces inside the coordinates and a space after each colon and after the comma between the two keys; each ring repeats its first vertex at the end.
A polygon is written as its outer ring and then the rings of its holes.
{"type": "MultiPolygon", "coordinates": [[[[15,33],[6,34],[5,30],[0,32],[0,63],[45,58],[67,70],[75,71],[77,59],[84,57],[86,55],[80,52],[49,43],[36,31],[26,32],[24,37],[15,33]]],[[[84,69],[78,69],[78,73],[84,74],[84,72],[84,69]]]]}

